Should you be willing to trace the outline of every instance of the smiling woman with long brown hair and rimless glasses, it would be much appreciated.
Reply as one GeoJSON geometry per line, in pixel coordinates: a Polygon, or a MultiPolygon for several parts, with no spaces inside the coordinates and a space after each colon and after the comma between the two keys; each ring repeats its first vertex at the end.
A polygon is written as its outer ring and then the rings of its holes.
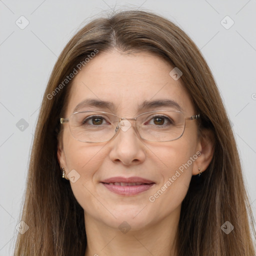
{"type": "Polygon", "coordinates": [[[251,256],[250,217],[230,123],[191,39],[144,11],[78,31],[42,101],[15,255],[251,256]]]}

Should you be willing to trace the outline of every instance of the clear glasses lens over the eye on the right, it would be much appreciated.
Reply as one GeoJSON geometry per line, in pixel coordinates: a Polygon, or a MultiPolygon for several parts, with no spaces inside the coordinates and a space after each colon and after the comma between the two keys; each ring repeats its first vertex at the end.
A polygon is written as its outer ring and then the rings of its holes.
{"type": "Polygon", "coordinates": [[[137,129],[140,136],[150,141],[170,141],[179,138],[185,127],[182,112],[161,110],[144,113],[137,118],[137,129]]]}

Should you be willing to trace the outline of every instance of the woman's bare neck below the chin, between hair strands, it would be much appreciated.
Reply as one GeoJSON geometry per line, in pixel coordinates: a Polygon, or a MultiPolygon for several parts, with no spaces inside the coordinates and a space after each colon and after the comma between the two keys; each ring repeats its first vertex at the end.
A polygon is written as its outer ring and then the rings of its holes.
{"type": "MultiPolygon", "coordinates": [[[[176,256],[175,237],[180,207],[160,222],[148,223],[143,229],[125,230],[109,227],[93,216],[84,214],[87,246],[85,256],[176,256]]],[[[120,221],[122,223],[122,221],[120,221]]]]}

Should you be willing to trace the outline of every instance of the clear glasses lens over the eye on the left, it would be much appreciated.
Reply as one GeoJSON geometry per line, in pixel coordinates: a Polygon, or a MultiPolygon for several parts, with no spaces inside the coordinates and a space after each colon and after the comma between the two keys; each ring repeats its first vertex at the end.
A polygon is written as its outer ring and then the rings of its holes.
{"type": "Polygon", "coordinates": [[[111,139],[117,124],[117,116],[97,111],[77,112],[69,118],[71,134],[85,142],[103,142],[111,139]]]}

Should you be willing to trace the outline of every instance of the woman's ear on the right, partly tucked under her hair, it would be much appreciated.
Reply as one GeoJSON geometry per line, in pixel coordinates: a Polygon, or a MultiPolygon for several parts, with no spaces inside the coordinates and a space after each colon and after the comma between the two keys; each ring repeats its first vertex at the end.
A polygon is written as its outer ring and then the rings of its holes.
{"type": "Polygon", "coordinates": [[[210,164],[214,153],[214,135],[212,130],[203,129],[198,141],[197,150],[201,152],[193,164],[192,175],[203,172],[210,164]],[[200,168],[200,170],[198,170],[200,168]]]}

